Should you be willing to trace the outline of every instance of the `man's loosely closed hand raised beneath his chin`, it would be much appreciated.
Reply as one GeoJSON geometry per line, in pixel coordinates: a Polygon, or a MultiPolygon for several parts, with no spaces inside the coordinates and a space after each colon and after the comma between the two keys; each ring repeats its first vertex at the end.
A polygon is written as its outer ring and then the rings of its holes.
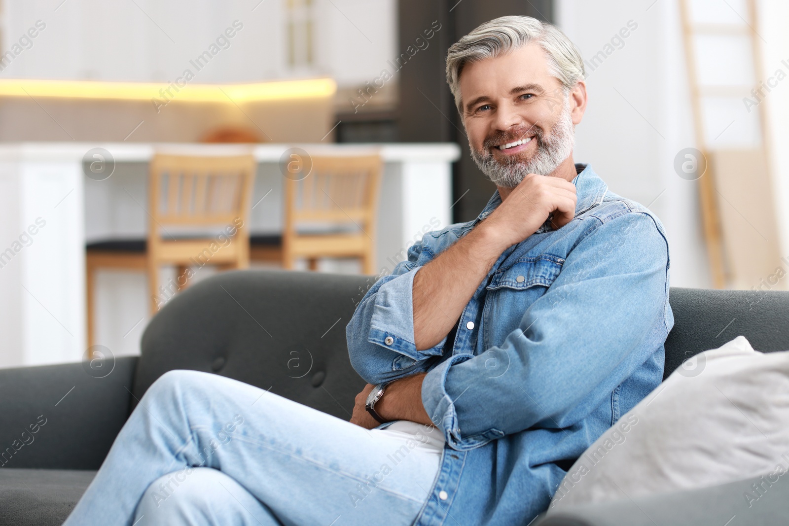
{"type": "Polygon", "coordinates": [[[571,182],[529,173],[480,226],[510,247],[537,232],[549,215],[553,228],[567,225],[575,216],[577,200],[571,182]]]}

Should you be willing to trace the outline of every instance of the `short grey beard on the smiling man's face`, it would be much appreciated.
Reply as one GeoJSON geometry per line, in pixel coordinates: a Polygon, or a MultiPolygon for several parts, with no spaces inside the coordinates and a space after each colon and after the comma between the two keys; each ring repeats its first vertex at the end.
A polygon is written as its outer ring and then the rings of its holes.
{"type": "Polygon", "coordinates": [[[499,162],[493,158],[490,150],[477,151],[471,147],[471,158],[485,177],[495,185],[503,188],[515,188],[529,173],[551,175],[562,162],[573,152],[575,130],[570,115],[570,101],[565,101],[564,110],[556,122],[550,135],[544,135],[542,129],[535,127],[537,135],[537,151],[531,159],[521,160],[513,157],[509,161],[499,162]]]}

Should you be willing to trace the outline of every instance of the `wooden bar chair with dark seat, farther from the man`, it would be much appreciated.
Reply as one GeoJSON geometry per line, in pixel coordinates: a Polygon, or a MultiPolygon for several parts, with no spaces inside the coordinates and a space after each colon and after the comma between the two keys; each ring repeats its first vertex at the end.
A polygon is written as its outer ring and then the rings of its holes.
{"type": "Polygon", "coordinates": [[[95,271],[101,267],[148,270],[150,311],[183,289],[190,267],[249,267],[249,201],[256,162],[252,155],[157,154],[148,178],[148,238],[88,247],[88,342],[93,345],[95,271]],[[208,231],[216,230],[213,235],[208,231]],[[177,283],[159,288],[159,267],[174,265],[177,283]],[[174,289],[174,290],[173,290],[174,289]]]}

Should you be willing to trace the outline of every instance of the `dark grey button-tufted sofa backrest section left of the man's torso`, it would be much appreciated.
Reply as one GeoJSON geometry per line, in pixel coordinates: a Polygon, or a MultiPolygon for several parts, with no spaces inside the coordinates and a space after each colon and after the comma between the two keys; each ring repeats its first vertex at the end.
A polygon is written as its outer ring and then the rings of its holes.
{"type": "Polygon", "coordinates": [[[374,278],[241,270],[179,293],[142,338],[133,393],[166,371],[214,372],[350,420],[365,386],[348,359],[345,328],[374,278]]]}

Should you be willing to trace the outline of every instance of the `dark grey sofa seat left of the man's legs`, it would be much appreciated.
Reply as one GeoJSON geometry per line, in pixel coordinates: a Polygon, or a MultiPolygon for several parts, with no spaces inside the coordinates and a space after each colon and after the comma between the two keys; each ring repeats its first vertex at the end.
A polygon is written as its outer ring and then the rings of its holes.
{"type": "Polygon", "coordinates": [[[0,469],[0,526],[59,526],[96,472],[0,469]]]}

